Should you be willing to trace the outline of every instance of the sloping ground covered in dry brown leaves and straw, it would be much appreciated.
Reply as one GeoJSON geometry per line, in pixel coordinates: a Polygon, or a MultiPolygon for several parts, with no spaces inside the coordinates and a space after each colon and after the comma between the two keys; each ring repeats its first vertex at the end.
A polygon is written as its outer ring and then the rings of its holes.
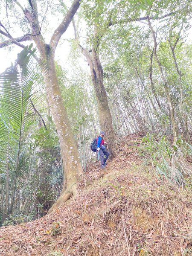
{"type": "Polygon", "coordinates": [[[192,191],[156,177],[138,134],[118,140],[105,169],[89,163],[79,195],[55,212],[0,228],[0,255],[192,255],[192,191]]]}

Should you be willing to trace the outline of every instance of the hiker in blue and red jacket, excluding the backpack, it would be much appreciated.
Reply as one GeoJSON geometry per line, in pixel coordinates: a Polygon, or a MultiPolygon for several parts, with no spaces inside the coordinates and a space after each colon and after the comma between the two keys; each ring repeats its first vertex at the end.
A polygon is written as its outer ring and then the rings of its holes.
{"type": "Polygon", "coordinates": [[[96,148],[100,155],[102,169],[105,168],[106,161],[108,160],[108,157],[109,157],[109,152],[105,149],[105,146],[104,146],[104,140],[103,140],[104,136],[105,136],[105,131],[100,131],[100,134],[96,138],[96,148]]]}

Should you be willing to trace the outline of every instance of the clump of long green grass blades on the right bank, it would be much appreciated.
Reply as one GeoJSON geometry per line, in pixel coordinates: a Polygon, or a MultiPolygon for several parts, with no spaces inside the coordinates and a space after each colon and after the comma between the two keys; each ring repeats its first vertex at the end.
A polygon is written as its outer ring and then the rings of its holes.
{"type": "Polygon", "coordinates": [[[147,134],[140,146],[140,155],[154,166],[157,177],[183,187],[186,178],[192,175],[192,146],[181,138],[172,144],[166,136],[156,138],[147,134]]]}

